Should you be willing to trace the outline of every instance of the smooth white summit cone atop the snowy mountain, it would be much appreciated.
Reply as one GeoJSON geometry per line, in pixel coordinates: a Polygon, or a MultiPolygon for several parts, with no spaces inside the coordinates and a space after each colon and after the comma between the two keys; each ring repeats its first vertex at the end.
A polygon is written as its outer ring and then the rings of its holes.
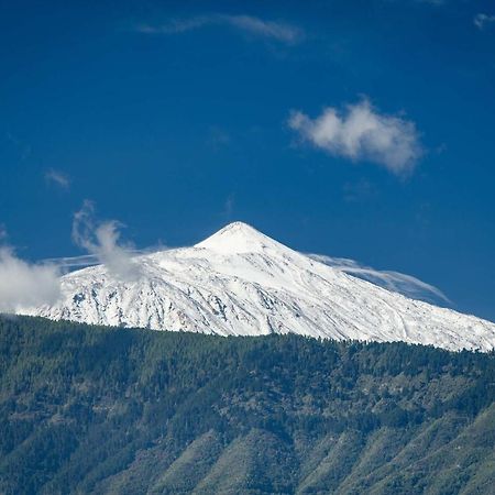
{"type": "Polygon", "coordinates": [[[280,244],[248,223],[238,221],[223,227],[195,248],[205,248],[222,254],[240,254],[258,253],[276,245],[280,244]]]}

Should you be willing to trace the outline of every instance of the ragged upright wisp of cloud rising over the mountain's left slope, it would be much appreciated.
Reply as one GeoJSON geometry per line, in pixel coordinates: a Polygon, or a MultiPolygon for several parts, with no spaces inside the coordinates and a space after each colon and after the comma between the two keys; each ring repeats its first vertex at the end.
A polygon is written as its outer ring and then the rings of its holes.
{"type": "Polygon", "coordinates": [[[96,223],[94,213],[94,204],[86,200],[74,215],[74,242],[105,264],[113,277],[124,282],[138,278],[139,266],[132,260],[131,249],[119,245],[122,224],[116,220],[96,223]]]}

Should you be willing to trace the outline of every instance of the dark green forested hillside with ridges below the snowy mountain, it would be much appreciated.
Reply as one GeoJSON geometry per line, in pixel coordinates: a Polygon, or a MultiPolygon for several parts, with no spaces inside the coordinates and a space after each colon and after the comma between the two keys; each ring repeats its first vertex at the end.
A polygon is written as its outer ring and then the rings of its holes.
{"type": "Polygon", "coordinates": [[[0,317],[2,494],[490,494],[495,356],[0,317]]]}

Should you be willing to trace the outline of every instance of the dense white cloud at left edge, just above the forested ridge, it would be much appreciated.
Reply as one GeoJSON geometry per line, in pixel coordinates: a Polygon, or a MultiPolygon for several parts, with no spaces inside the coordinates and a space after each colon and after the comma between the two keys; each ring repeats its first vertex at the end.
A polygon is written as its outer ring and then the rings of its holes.
{"type": "Polygon", "coordinates": [[[0,311],[22,312],[56,302],[61,294],[59,271],[51,264],[31,264],[11,248],[0,248],[0,311]]]}

